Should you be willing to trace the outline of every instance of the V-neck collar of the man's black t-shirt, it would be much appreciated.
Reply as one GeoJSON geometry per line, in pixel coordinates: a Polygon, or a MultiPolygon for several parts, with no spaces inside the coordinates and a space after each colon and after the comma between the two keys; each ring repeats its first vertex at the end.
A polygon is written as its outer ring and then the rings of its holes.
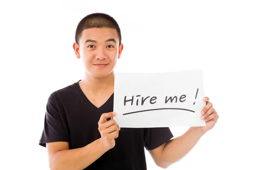
{"type": "Polygon", "coordinates": [[[90,100],[87,98],[87,96],[85,96],[84,92],[82,91],[79,82],[81,80],[79,80],[78,82],[75,83],[76,89],[79,91],[79,94],[81,95],[81,97],[84,99],[84,101],[86,102],[86,104],[88,105],[88,107],[95,111],[95,112],[102,112],[111,102],[113,102],[113,97],[114,97],[114,93],[108,98],[108,100],[101,105],[99,108],[97,108],[95,105],[93,105],[92,102],[90,102],[90,100]]]}

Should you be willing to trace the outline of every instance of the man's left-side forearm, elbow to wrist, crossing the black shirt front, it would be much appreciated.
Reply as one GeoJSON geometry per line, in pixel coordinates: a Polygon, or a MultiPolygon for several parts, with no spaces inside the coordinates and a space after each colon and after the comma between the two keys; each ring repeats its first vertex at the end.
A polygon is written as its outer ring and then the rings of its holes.
{"type": "Polygon", "coordinates": [[[85,147],[58,151],[51,159],[50,167],[51,170],[82,170],[99,159],[106,151],[97,139],[85,147]]]}

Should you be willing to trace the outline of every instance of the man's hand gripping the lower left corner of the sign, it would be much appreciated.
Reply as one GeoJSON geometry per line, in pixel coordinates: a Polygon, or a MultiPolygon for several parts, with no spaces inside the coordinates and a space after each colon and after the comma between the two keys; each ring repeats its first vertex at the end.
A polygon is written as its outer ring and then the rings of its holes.
{"type": "Polygon", "coordinates": [[[106,150],[110,150],[115,146],[115,139],[119,135],[120,127],[116,124],[113,116],[116,116],[116,113],[103,113],[98,122],[98,129],[101,135],[100,141],[102,142],[106,150]],[[110,117],[111,120],[107,121],[107,119],[110,117]]]}

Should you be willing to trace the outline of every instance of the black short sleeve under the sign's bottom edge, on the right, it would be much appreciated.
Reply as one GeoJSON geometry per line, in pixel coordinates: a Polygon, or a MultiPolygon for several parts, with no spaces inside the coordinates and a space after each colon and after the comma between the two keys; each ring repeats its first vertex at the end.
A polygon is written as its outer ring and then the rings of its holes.
{"type": "Polygon", "coordinates": [[[151,127],[144,130],[144,146],[146,150],[153,150],[172,138],[173,134],[169,127],[151,127]]]}

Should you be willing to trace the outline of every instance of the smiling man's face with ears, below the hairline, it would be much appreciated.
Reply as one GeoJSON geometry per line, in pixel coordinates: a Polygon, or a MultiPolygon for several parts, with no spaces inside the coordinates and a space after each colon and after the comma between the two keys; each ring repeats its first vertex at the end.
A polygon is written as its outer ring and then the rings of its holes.
{"type": "Polygon", "coordinates": [[[73,45],[76,57],[81,57],[87,74],[96,78],[107,77],[113,71],[123,49],[113,28],[85,29],[79,45],[73,45]]]}

